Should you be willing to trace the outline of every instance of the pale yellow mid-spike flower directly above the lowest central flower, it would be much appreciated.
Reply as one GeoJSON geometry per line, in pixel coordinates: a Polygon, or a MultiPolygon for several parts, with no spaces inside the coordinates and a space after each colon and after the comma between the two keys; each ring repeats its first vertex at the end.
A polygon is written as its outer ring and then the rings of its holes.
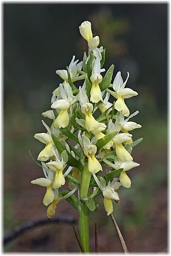
{"type": "Polygon", "coordinates": [[[87,129],[87,131],[92,132],[96,129],[103,131],[104,129],[106,129],[105,124],[96,121],[95,118],[92,116],[93,105],[88,102],[88,97],[83,87],[77,94],[77,99],[81,104],[81,112],[85,116],[85,128],[87,129]]]}

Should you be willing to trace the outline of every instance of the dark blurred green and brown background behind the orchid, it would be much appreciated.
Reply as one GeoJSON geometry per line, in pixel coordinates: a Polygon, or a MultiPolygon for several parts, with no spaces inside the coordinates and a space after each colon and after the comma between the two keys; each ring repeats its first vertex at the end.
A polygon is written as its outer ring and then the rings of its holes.
{"type": "MultiPolygon", "coordinates": [[[[87,44],[79,33],[90,20],[94,35],[106,48],[105,68],[114,75],[129,71],[128,87],[139,96],[128,99],[133,131],[143,142],[133,148],[139,168],[131,170],[130,189],[120,189],[114,216],[130,252],[167,251],[167,3],[23,4],[3,3],[4,72],[4,232],[31,219],[46,217],[44,188],[30,184],[42,176],[32,163],[42,143],[34,134],[44,132],[43,111],[50,109],[51,93],[60,82],[55,70],[66,68],[72,56],[81,60],[87,44]]],[[[99,250],[121,252],[101,197],[98,212],[91,213],[91,251],[98,222],[99,250]]],[[[67,202],[57,215],[77,219],[67,202]]],[[[55,224],[32,229],[8,243],[6,252],[77,252],[72,226],[55,224]]]]}

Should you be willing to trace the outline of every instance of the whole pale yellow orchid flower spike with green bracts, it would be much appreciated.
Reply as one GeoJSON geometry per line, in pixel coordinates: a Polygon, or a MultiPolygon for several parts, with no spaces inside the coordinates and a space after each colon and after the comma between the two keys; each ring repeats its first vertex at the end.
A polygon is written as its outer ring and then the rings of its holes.
{"type": "MultiPolygon", "coordinates": [[[[139,111],[130,114],[127,106],[127,99],[138,93],[127,87],[129,73],[123,81],[120,71],[112,78],[113,64],[105,71],[105,49],[99,47],[99,37],[93,37],[91,23],[84,21],[79,29],[88,53],[81,62],[73,56],[65,70],[56,71],[61,83],[53,91],[49,110],[42,113],[51,125],[42,121],[47,131],[35,134],[45,146],[38,155],[44,175],[31,183],[46,187],[43,204],[49,218],[58,203],[67,200],[81,219],[85,208],[99,209],[98,194],[110,215],[120,202],[118,189],[131,187],[129,171],[139,166],[131,154],[142,138],[133,141],[130,132],[141,125],[129,121],[139,111]]],[[[83,238],[82,242],[86,246],[83,238]]]]}

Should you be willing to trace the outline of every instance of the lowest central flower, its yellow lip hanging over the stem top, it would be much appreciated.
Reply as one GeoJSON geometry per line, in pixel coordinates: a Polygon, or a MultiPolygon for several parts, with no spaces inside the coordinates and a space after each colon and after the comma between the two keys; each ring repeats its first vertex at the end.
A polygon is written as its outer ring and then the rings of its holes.
{"type": "Polygon", "coordinates": [[[90,139],[88,139],[87,136],[85,136],[85,132],[83,133],[82,136],[80,134],[81,134],[81,131],[79,131],[78,138],[79,138],[80,145],[83,148],[83,152],[85,156],[87,156],[88,158],[88,171],[96,174],[96,172],[102,170],[102,165],[99,163],[99,161],[95,157],[97,147],[93,144],[93,142],[95,143],[97,140],[93,138],[90,142],[90,139]]]}

